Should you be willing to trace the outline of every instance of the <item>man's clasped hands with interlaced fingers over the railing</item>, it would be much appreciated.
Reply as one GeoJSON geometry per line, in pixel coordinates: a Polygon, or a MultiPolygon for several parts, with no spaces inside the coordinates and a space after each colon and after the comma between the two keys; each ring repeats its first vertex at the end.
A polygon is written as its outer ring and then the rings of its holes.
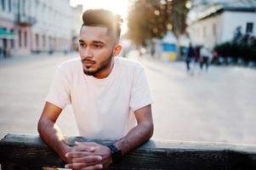
{"type": "Polygon", "coordinates": [[[65,168],[75,170],[106,169],[112,162],[111,150],[94,142],[76,142],[65,157],[68,161],[65,168]]]}

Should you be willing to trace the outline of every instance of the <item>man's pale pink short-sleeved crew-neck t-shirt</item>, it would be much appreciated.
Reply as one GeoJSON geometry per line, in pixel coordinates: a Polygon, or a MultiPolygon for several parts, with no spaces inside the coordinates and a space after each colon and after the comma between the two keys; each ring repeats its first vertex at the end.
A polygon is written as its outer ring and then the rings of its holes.
{"type": "Polygon", "coordinates": [[[61,109],[71,104],[80,135],[94,139],[122,138],[136,126],[134,111],[152,103],[144,68],[122,57],[104,79],[85,75],[80,58],[65,61],[46,100],[61,109]]]}

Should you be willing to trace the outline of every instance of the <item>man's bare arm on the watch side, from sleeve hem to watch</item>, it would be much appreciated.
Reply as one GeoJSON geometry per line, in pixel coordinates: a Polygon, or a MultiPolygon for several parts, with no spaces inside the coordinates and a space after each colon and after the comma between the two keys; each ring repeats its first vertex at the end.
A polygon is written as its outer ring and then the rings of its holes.
{"type": "Polygon", "coordinates": [[[129,151],[139,147],[140,144],[143,144],[146,140],[150,139],[153,134],[154,125],[151,105],[147,105],[135,111],[135,116],[138,125],[115,143],[115,145],[122,150],[122,155],[126,155],[129,151]]]}

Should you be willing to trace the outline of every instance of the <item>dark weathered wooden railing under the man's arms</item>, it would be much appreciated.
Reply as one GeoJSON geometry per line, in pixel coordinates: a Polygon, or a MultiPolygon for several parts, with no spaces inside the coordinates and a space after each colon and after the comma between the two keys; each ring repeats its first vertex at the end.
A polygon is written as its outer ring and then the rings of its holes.
{"type": "MultiPolygon", "coordinates": [[[[70,145],[74,141],[113,142],[82,137],[66,139],[70,145]]],[[[0,141],[0,164],[2,170],[42,170],[64,167],[65,163],[39,136],[8,134],[0,141]]],[[[256,145],[149,140],[110,169],[253,170],[256,169],[256,145]]]]}

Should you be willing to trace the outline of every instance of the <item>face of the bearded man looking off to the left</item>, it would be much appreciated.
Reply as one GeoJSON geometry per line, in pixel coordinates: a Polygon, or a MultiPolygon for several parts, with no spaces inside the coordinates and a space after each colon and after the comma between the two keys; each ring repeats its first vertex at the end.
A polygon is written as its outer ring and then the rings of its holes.
{"type": "Polygon", "coordinates": [[[100,77],[111,67],[115,42],[106,27],[82,26],[79,38],[79,54],[83,72],[100,77]]]}

